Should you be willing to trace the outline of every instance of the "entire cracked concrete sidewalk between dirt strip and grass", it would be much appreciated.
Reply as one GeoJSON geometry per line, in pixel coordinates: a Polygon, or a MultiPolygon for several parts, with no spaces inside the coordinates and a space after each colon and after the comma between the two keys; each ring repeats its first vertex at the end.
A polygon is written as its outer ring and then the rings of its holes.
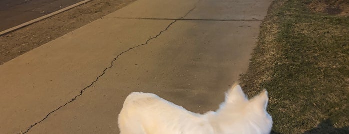
{"type": "Polygon", "coordinates": [[[118,133],[133,91],[215,110],[272,0],[138,0],[0,66],[1,133],[118,133]]]}

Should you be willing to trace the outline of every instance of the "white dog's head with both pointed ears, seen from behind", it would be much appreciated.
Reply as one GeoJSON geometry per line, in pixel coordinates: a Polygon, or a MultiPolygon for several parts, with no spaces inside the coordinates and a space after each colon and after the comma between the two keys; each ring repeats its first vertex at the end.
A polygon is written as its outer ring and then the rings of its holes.
{"type": "Polygon", "coordinates": [[[219,120],[225,120],[219,127],[226,132],[234,130],[237,133],[269,133],[273,121],[266,110],[267,105],[267,90],[264,89],[248,100],[241,87],[235,84],[226,93],[225,102],[217,111],[219,120]]]}

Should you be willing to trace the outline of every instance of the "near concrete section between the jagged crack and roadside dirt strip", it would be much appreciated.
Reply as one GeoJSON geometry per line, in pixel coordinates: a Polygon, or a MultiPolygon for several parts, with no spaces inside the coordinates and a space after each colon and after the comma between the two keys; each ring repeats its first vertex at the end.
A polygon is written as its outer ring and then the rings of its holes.
{"type": "Polygon", "coordinates": [[[100,19],[0,66],[0,133],[25,131],[170,21],[100,19]]]}

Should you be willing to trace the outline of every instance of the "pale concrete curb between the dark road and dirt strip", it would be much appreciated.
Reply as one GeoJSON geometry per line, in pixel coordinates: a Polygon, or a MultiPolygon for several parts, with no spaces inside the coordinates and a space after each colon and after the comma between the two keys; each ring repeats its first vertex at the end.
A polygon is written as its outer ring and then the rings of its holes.
{"type": "Polygon", "coordinates": [[[41,21],[41,20],[43,20],[43,19],[49,18],[49,17],[51,17],[51,16],[57,15],[57,14],[59,14],[59,13],[62,13],[62,12],[67,11],[67,10],[69,10],[69,9],[72,9],[72,8],[74,8],[74,7],[76,7],[76,6],[81,5],[81,4],[87,3],[87,2],[89,2],[89,1],[92,1],[92,0],[84,0],[84,1],[81,1],[81,2],[78,2],[78,3],[75,3],[75,4],[73,4],[73,5],[70,5],[70,6],[65,7],[65,8],[63,8],[63,9],[60,9],[60,10],[57,10],[57,11],[52,12],[52,13],[50,13],[50,14],[44,15],[44,16],[42,16],[42,17],[39,17],[39,18],[36,18],[36,19],[33,19],[33,20],[30,20],[30,21],[28,21],[28,22],[25,22],[25,23],[22,23],[22,24],[20,24],[20,25],[14,26],[14,27],[9,28],[9,29],[7,29],[7,30],[1,31],[1,32],[0,32],[0,36],[6,35],[6,34],[8,34],[8,33],[10,33],[10,32],[16,31],[16,30],[18,30],[18,29],[21,29],[21,28],[23,28],[23,27],[25,27],[25,26],[31,25],[31,24],[36,23],[36,22],[38,22],[38,21],[41,21]]]}

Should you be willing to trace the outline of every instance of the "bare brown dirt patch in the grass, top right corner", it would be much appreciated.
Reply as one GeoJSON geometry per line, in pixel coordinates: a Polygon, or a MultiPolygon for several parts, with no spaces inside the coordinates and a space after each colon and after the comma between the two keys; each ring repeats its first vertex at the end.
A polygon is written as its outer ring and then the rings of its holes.
{"type": "Polygon", "coordinates": [[[348,0],[313,0],[308,7],[313,12],[328,15],[349,16],[348,0]]]}

